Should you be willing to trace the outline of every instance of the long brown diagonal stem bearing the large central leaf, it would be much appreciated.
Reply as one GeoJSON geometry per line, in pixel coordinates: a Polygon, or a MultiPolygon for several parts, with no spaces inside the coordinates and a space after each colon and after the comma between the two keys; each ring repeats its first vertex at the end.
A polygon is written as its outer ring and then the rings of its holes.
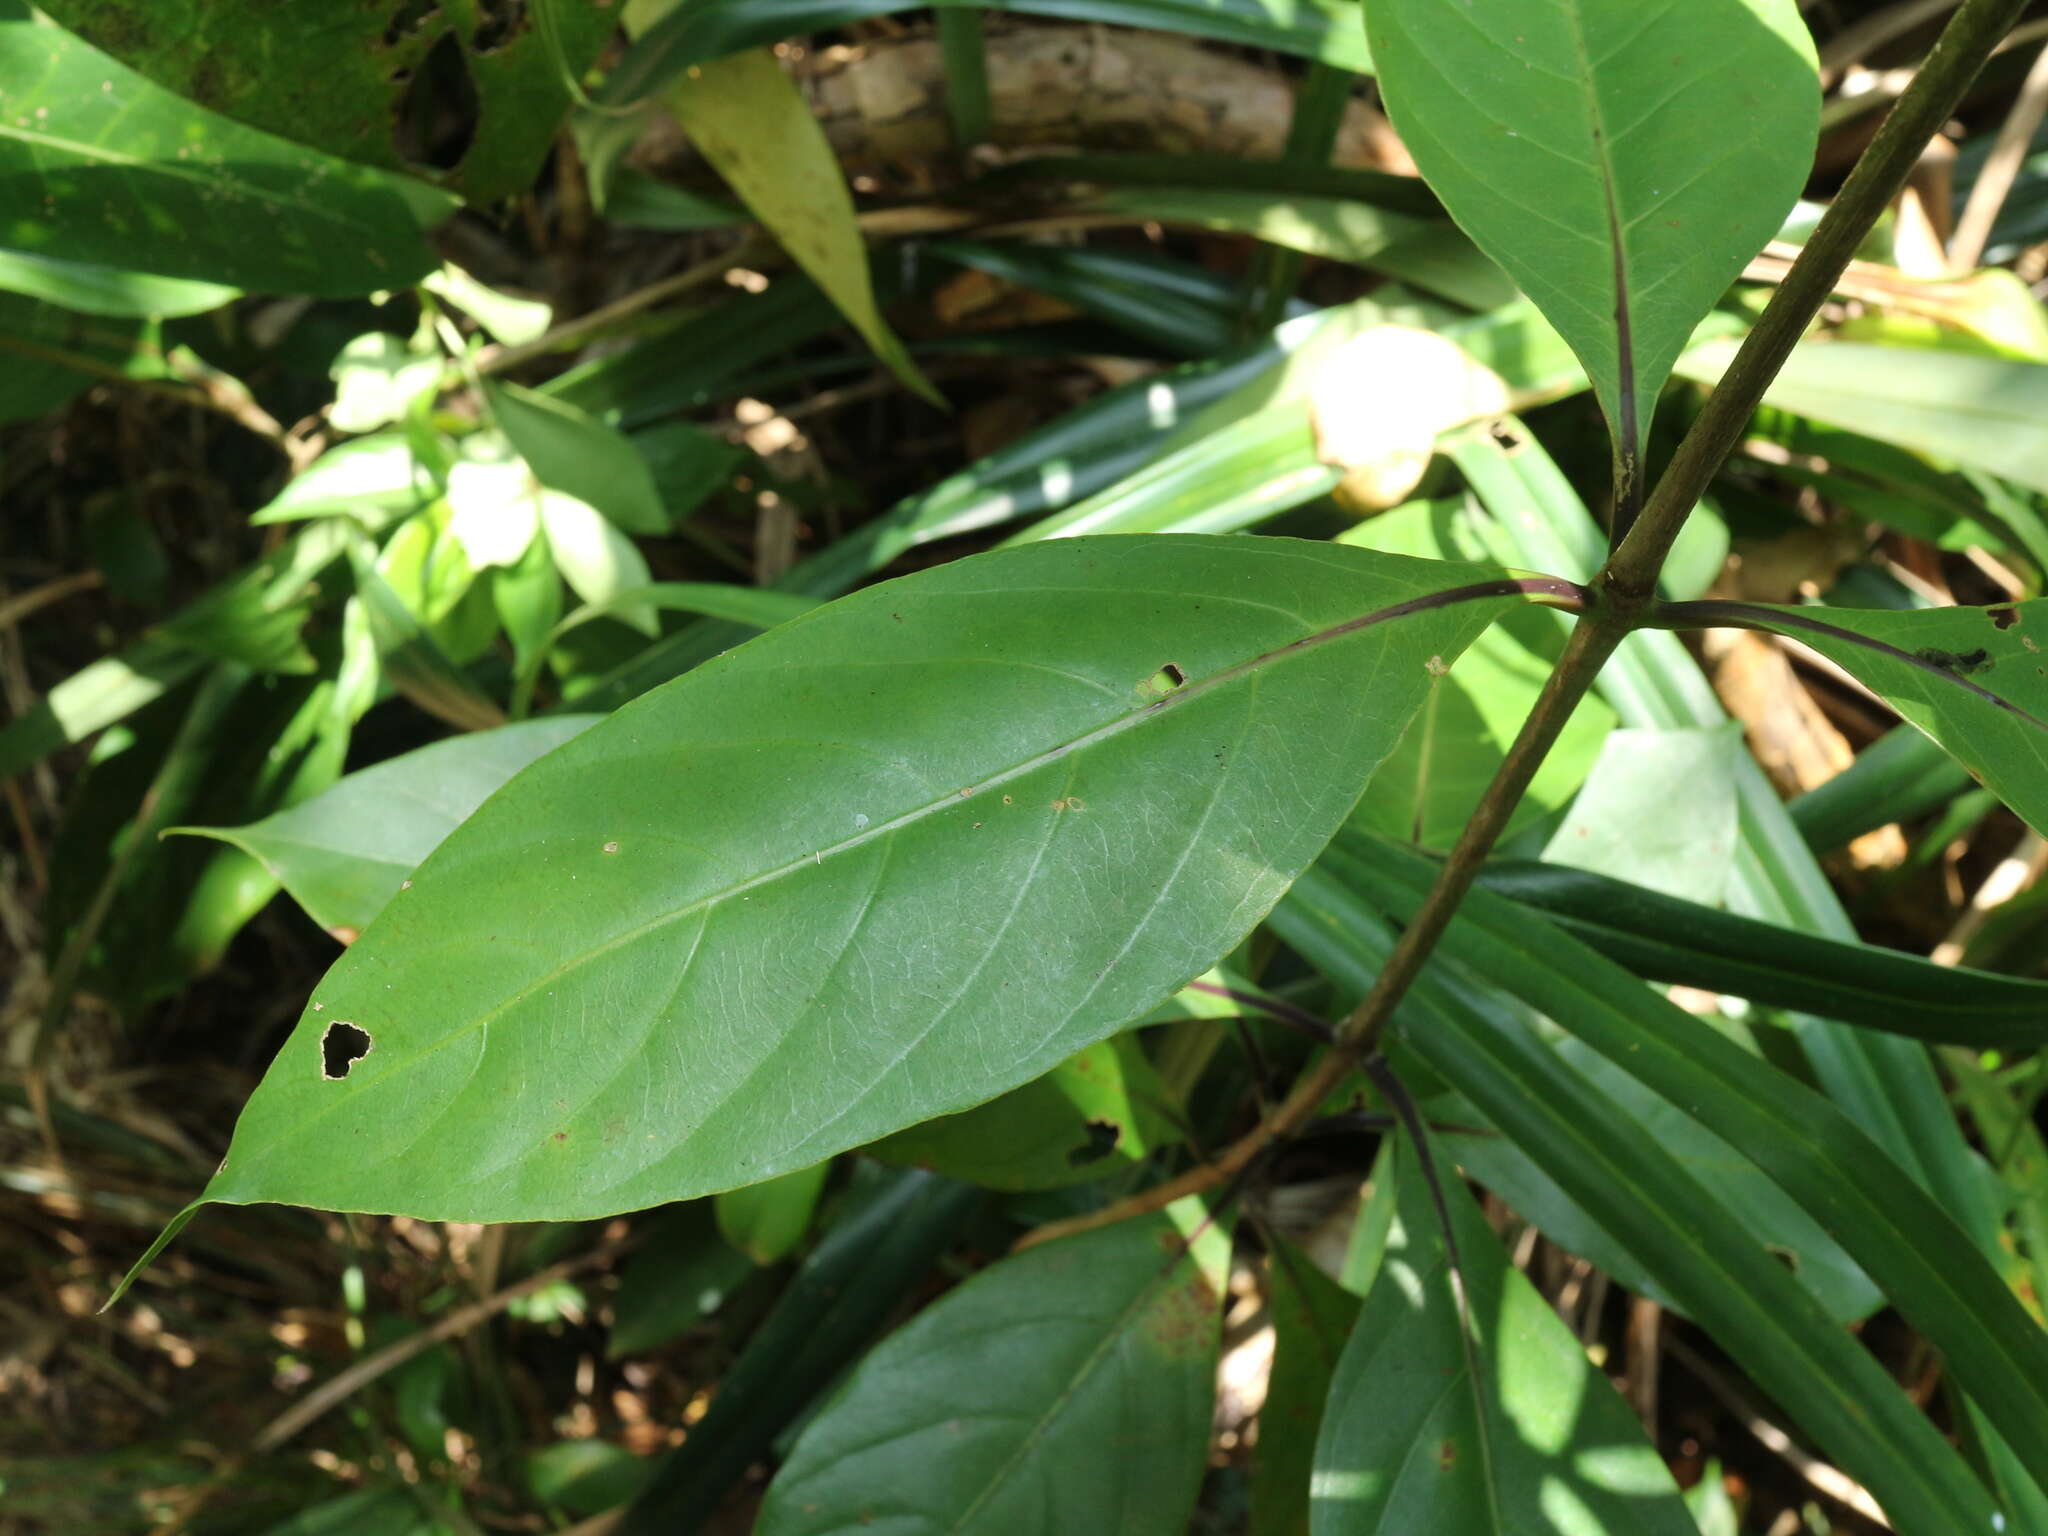
{"type": "Polygon", "coordinates": [[[1784,367],[1792,344],[1821,311],[1855,246],[1905,186],[1921,147],[1948,121],[1956,102],[1962,100],[1962,92],[1970,88],[1976,72],[2025,4],[2028,0],[1964,0],[1962,10],[1942,33],[1942,41],[1935,43],[1911,90],[1878,129],[1878,137],[1864,152],[1841,195],[1821,219],[1812,240],[1806,242],[1806,250],[1786,272],[1769,307],[1757,319],[1749,340],[1743,342],[1735,362],[1729,365],[1720,387],[1657,481],[1642,516],[1595,578],[1595,602],[1573,627],[1556,668],[1544,682],[1530,717],[1522,723],[1522,733],[1481,795],[1479,807],[1450,858],[1444,860],[1436,885],[1430,887],[1415,918],[1401,932],[1366,999],[1337,1028],[1337,1042],[1300,1077],[1280,1108],[1214,1161],[1198,1163],[1165,1184],[1141,1190],[1085,1217],[1036,1227],[1024,1235],[1018,1247],[1159,1210],[1186,1194],[1200,1194],[1223,1184],[1245,1169],[1274,1141],[1294,1135],[1313,1120],[1352,1069],[1378,1047],[1395,1008],[1415,985],[1444,930],[1450,928],[1450,920],[1550,745],[1565,729],[1565,721],[1591,690],[1614,647],[1628,631],[1636,629],[1655,600],[1657,573],[1663,569],[1665,555],[1671,553],[1671,541],[1735,449],[1751,412],[1763,399],[1763,389],[1784,367]]]}

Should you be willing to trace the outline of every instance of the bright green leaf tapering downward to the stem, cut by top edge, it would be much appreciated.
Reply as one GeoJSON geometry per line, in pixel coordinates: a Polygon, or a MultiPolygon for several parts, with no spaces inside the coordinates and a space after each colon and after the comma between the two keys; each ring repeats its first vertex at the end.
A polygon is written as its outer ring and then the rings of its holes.
{"type": "Polygon", "coordinates": [[[1821,92],[1794,0],[1366,0],[1415,164],[1593,379],[1624,455],[1778,233],[1821,92]]]}

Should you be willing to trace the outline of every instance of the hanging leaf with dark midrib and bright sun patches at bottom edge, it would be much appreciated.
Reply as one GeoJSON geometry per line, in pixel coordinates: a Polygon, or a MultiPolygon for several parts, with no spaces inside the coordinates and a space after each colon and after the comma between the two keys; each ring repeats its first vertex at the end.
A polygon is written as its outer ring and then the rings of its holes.
{"type": "Polygon", "coordinates": [[[1315,1446],[1315,1536],[1698,1536],[1628,1403],[1413,1147],[1315,1446]],[[1464,1307],[1460,1311],[1460,1282],[1464,1307]]]}

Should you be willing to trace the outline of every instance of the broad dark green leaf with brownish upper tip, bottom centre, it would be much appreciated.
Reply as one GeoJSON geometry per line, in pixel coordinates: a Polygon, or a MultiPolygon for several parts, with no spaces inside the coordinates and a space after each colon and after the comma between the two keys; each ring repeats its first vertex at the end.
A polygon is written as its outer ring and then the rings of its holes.
{"type": "Polygon", "coordinates": [[[756,1530],[1182,1536],[1227,1268],[1229,1241],[1182,1202],[983,1270],[860,1362],[756,1530]]]}

